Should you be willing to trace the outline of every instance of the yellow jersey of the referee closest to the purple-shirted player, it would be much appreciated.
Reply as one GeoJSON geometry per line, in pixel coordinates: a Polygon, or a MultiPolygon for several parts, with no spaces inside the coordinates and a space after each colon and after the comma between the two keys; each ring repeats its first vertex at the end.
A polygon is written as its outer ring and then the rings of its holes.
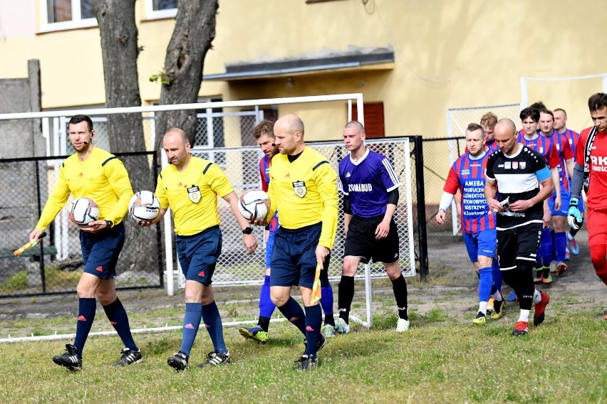
{"type": "Polygon", "coordinates": [[[322,222],[320,245],[333,248],[337,230],[337,174],[325,156],[306,146],[295,161],[276,154],[270,166],[269,215],[279,212],[280,225],[299,229],[322,222]]]}

